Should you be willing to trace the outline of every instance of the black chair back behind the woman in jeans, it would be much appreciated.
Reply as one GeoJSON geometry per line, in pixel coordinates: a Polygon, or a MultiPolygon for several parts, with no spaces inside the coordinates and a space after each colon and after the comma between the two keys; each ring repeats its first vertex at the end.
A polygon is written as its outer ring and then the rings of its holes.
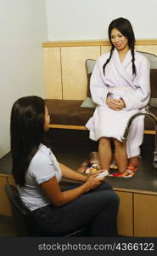
{"type": "Polygon", "coordinates": [[[40,227],[36,223],[36,218],[23,205],[18,189],[11,184],[6,184],[4,189],[8,197],[17,236],[41,236],[40,227]]]}

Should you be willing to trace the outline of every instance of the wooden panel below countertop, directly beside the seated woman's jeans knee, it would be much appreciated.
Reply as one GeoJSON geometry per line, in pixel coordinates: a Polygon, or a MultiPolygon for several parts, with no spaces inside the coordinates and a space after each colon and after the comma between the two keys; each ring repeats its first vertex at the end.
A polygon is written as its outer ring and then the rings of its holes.
{"type": "Polygon", "coordinates": [[[120,196],[118,213],[118,234],[133,236],[132,193],[115,191],[120,196]]]}

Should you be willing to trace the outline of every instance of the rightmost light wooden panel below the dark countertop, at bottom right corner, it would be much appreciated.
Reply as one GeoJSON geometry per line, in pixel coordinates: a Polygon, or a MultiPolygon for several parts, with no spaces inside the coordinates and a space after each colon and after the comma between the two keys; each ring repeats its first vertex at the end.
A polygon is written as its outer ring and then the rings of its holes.
{"type": "Polygon", "coordinates": [[[157,195],[134,195],[134,236],[157,237],[157,195]]]}

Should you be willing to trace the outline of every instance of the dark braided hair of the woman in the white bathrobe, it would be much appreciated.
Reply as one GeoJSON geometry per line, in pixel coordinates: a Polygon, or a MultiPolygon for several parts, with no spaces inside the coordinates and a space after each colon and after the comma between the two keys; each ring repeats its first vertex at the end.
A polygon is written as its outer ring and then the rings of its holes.
{"type": "Polygon", "coordinates": [[[118,18],[118,19],[112,20],[111,23],[109,24],[108,34],[109,34],[109,42],[111,44],[111,49],[110,49],[109,59],[104,63],[104,67],[103,67],[104,73],[105,73],[105,67],[109,63],[110,58],[113,53],[113,50],[115,49],[115,46],[114,46],[114,44],[112,44],[112,41],[111,41],[111,31],[114,28],[116,28],[118,31],[120,31],[121,34],[128,40],[128,45],[132,52],[132,73],[136,74],[136,67],[135,67],[135,63],[134,63],[134,61],[135,61],[135,53],[134,53],[135,35],[134,35],[133,29],[132,29],[131,22],[124,18],[118,18]]]}

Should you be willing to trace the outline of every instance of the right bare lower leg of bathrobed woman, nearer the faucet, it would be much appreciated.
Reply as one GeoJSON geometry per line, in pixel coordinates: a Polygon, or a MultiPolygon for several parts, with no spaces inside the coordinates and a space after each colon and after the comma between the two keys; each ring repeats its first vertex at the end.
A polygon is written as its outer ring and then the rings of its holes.
{"type": "Polygon", "coordinates": [[[115,143],[115,160],[118,165],[119,172],[125,172],[127,167],[126,142],[121,143],[114,139],[115,143]]]}

